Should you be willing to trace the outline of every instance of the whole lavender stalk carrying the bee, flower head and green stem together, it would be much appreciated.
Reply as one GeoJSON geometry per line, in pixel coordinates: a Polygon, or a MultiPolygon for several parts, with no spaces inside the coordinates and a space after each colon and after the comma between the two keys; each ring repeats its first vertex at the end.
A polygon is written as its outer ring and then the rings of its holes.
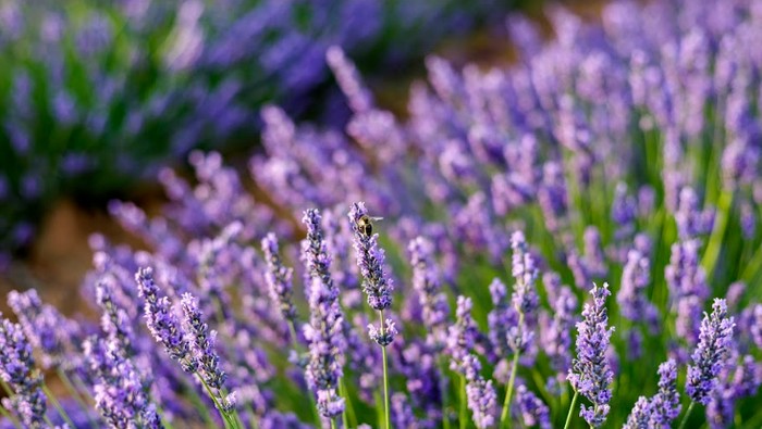
{"type": "Polygon", "coordinates": [[[354,248],[357,253],[357,266],[362,275],[362,292],[367,295],[368,305],[379,312],[379,327],[368,325],[370,338],[381,346],[383,359],[383,406],[385,427],[391,428],[389,409],[389,369],[386,346],[392,343],[397,333],[394,321],[384,317],[384,311],[392,306],[394,283],[383,268],[384,252],[378,245],[378,234],[372,234],[370,218],[364,202],[353,203],[349,210],[349,222],[354,232],[354,248]]]}

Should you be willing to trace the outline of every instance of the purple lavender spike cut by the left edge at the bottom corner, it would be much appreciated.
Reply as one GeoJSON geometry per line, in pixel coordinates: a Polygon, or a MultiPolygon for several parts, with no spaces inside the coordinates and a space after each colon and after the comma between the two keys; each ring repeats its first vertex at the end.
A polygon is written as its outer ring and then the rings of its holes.
{"type": "Polygon", "coordinates": [[[15,411],[24,427],[47,427],[42,375],[35,368],[32,344],[22,327],[5,318],[0,321],[0,378],[14,393],[2,406],[15,411]]]}

